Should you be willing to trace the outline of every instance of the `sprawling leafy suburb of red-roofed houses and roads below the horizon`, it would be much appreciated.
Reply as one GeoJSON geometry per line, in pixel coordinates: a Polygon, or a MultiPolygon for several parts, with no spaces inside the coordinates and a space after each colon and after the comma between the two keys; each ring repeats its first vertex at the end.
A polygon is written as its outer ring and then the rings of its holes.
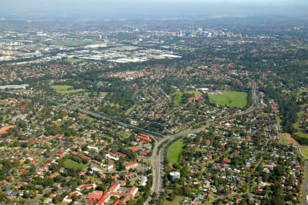
{"type": "Polygon", "coordinates": [[[18,22],[0,204],[307,204],[307,19],[18,22]]]}

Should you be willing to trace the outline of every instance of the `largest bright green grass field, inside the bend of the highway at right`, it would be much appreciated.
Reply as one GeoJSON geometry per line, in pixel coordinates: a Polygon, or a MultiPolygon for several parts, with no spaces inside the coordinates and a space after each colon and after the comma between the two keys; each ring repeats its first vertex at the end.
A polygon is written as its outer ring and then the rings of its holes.
{"type": "Polygon", "coordinates": [[[211,103],[220,106],[244,108],[247,104],[247,93],[237,91],[221,91],[222,94],[209,95],[211,103]]]}

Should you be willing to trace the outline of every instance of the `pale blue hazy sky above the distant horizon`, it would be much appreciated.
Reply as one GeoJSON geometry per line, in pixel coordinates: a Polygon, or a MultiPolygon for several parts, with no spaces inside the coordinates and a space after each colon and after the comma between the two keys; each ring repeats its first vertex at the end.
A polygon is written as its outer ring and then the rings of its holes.
{"type": "Polygon", "coordinates": [[[0,18],[308,16],[308,0],[0,0],[0,18]]]}

